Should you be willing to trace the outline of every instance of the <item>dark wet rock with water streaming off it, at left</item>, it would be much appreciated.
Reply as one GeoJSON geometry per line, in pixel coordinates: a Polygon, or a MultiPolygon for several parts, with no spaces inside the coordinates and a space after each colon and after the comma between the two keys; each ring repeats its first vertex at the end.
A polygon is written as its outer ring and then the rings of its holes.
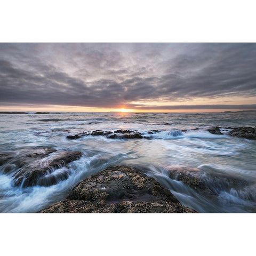
{"type": "Polygon", "coordinates": [[[27,155],[21,154],[10,162],[19,168],[19,171],[13,175],[14,186],[54,185],[68,178],[67,164],[81,156],[80,151],[57,151],[55,149],[41,149],[40,152],[35,150],[27,155]],[[66,168],[62,168],[65,166],[66,168]],[[59,171],[57,172],[56,169],[59,171]]]}

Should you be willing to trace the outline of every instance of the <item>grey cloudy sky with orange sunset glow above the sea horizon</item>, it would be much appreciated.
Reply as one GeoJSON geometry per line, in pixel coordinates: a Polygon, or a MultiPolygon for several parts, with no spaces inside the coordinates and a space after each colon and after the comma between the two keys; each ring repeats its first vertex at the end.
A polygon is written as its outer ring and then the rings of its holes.
{"type": "Polygon", "coordinates": [[[256,43],[0,43],[0,111],[256,110],[256,43]]]}

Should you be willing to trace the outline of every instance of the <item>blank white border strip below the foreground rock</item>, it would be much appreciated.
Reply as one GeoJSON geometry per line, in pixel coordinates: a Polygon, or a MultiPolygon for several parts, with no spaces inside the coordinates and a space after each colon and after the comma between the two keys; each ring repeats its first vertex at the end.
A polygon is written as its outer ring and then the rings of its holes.
{"type": "Polygon", "coordinates": [[[255,214],[1,214],[0,217],[2,255],[215,256],[252,255],[255,249],[255,214]]]}

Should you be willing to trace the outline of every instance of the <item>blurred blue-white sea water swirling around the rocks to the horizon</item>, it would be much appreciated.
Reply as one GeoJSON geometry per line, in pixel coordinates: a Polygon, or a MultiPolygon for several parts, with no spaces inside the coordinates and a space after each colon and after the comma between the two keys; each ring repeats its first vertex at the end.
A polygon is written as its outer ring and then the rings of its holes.
{"type": "MultiPolygon", "coordinates": [[[[18,155],[26,149],[53,148],[79,150],[83,156],[68,164],[68,179],[50,187],[15,187],[13,175],[18,169],[11,166],[13,169],[6,174],[6,166],[2,165],[0,212],[39,211],[66,198],[69,189],[89,175],[121,164],[139,167],[170,189],[183,205],[198,212],[255,212],[256,141],[205,131],[208,126],[254,127],[255,121],[254,113],[1,114],[0,153],[18,155]],[[195,128],[199,129],[193,130],[195,128]],[[84,131],[117,129],[138,130],[149,139],[108,139],[91,135],[76,140],[66,138],[84,131]],[[160,132],[148,133],[154,129],[160,132]],[[205,197],[182,182],[170,179],[167,175],[170,166],[198,167],[202,175],[209,177],[207,182],[217,196],[205,197]],[[212,179],[211,174],[215,173],[249,181],[250,185],[241,188],[229,180],[212,179]]],[[[65,168],[53,174],[67,171],[65,168]]]]}

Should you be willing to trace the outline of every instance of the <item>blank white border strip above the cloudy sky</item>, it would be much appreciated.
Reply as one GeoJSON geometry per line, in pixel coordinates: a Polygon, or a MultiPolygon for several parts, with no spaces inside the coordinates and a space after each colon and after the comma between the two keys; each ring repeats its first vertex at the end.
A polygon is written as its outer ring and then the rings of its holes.
{"type": "Polygon", "coordinates": [[[255,42],[253,0],[9,0],[1,42],[255,42]]]}

